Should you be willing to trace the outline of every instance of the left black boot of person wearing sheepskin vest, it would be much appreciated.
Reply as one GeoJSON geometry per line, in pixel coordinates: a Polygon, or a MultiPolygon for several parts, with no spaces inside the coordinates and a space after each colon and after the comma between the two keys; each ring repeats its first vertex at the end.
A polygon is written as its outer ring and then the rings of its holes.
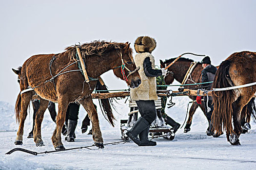
{"type": "Polygon", "coordinates": [[[138,138],[138,134],[140,134],[140,132],[142,132],[144,129],[146,129],[149,126],[149,122],[140,117],[136,123],[133,125],[132,129],[129,130],[128,132],[126,132],[126,135],[128,137],[130,137],[130,139],[132,141],[134,141],[134,143],[136,143],[138,146],[140,145],[140,140],[138,138]]]}

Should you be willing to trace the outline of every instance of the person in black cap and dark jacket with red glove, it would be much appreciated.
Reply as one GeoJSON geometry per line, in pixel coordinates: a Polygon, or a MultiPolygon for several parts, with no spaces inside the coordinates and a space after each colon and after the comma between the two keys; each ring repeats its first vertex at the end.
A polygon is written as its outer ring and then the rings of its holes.
{"type": "MultiPolygon", "coordinates": [[[[211,60],[209,56],[206,56],[203,58],[202,60],[202,76],[201,76],[201,82],[205,83],[205,82],[212,82],[214,81],[214,77],[217,71],[217,68],[214,67],[213,65],[211,65],[211,60]]],[[[205,90],[210,90],[211,86],[213,83],[208,83],[208,84],[203,84],[201,86],[204,86],[205,90]],[[206,86],[206,87],[205,87],[206,86]]],[[[201,96],[197,96],[197,103],[201,104],[201,96]]],[[[203,98],[203,102],[204,102],[204,108],[205,108],[205,115],[208,119],[209,122],[209,127],[207,129],[207,136],[213,136],[214,135],[214,129],[211,123],[211,118],[212,118],[212,114],[213,114],[213,98],[212,96],[204,96],[203,98]]],[[[217,136],[216,136],[217,137],[217,136]]]]}

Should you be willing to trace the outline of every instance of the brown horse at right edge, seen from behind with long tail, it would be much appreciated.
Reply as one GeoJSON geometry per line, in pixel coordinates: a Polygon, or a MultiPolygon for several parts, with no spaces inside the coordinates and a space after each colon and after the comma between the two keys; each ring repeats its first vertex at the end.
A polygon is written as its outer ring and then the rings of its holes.
{"type": "MultiPolygon", "coordinates": [[[[242,51],[230,55],[217,69],[213,88],[231,87],[256,82],[256,52],[242,51]]],[[[256,93],[256,85],[213,92],[214,111],[212,115],[217,133],[226,131],[227,140],[232,145],[240,145],[242,132],[241,113],[246,104],[255,105],[252,98],[256,93]],[[233,119],[233,125],[232,125],[233,119]]],[[[254,107],[255,108],[255,107],[254,107]]],[[[254,118],[255,111],[252,112],[254,118]]]]}

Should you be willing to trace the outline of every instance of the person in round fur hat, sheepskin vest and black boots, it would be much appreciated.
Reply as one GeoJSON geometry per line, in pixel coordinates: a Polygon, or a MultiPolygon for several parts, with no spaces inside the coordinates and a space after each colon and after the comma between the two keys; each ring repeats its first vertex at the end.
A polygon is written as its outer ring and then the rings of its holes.
{"type": "Polygon", "coordinates": [[[155,58],[151,52],[156,46],[156,40],[148,36],[138,37],[134,44],[135,51],[138,53],[134,62],[137,67],[140,67],[138,73],[141,78],[141,84],[138,88],[131,89],[130,96],[132,101],[136,101],[141,117],[126,135],[138,146],[157,145],[157,142],[148,139],[148,133],[149,126],[157,115],[154,102],[158,99],[156,77],[165,75],[167,71],[164,68],[155,69],[155,58]]]}

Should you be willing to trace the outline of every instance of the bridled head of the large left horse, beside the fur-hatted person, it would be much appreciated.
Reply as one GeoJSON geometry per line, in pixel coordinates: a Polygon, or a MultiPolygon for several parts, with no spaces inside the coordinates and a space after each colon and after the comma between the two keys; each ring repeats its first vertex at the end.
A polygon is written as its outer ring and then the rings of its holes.
{"type": "Polygon", "coordinates": [[[137,68],[132,55],[130,43],[126,42],[120,46],[118,51],[118,62],[114,74],[123,79],[131,88],[136,88],[141,84],[140,76],[138,74],[139,67],[137,68]]]}

